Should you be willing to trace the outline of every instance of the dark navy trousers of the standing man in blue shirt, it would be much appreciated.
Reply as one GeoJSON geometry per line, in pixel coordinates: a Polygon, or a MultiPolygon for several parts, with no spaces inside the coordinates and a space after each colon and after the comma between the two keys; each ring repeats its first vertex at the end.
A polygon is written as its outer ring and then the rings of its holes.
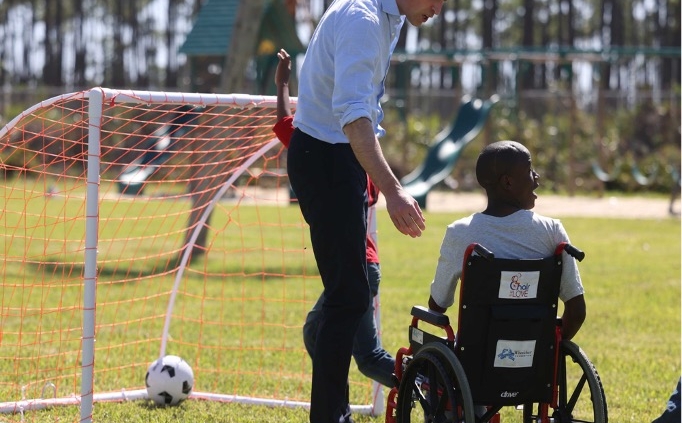
{"type": "Polygon", "coordinates": [[[367,175],[349,144],[329,144],[294,131],[289,182],[324,285],[313,353],[311,423],[351,421],[348,370],[353,339],[370,303],[367,281],[367,175]],[[345,416],[345,417],[344,417],[345,416]]]}

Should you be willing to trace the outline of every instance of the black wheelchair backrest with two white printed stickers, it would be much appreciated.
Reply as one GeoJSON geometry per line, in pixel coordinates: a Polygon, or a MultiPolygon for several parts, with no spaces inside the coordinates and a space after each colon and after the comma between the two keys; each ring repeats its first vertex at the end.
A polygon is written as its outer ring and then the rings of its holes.
{"type": "Polygon", "coordinates": [[[474,403],[551,400],[561,268],[560,252],[533,260],[465,257],[455,354],[474,403]]]}

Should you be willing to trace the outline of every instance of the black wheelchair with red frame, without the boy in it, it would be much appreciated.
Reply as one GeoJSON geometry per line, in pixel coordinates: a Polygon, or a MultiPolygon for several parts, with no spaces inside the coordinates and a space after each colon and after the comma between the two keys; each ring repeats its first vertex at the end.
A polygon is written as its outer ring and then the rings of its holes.
{"type": "Polygon", "coordinates": [[[543,259],[501,259],[471,244],[457,331],[447,315],[412,308],[409,346],[396,355],[386,423],[499,423],[503,407],[522,410],[523,423],[606,423],[595,366],[579,346],[561,339],[564,251],[579,261],[585,256],[561,243],[543,259]]]}

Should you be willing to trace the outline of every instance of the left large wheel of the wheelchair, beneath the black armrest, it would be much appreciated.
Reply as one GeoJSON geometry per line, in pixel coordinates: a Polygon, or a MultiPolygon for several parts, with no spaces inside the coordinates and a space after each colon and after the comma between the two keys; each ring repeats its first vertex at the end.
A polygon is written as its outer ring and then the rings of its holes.
{"type": "Polygon", "coordinates": [[[438,342],[424,345],[407,364],[396,406],[397,423],[475,423],[464,369],[438,342]]]}

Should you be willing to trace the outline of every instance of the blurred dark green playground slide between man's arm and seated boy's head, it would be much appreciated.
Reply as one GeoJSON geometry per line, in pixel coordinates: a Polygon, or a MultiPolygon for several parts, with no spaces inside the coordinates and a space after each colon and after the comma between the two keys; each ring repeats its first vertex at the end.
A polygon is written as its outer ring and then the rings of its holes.
{"type": "Polygon", "coordinates": [[[424,162],[401,179],[400,183],[419,207],[426,208],[426,195],[450,175],[462,150],[481,132],[490,109],[498,100],[497,95],[488,100],[464,98],[455,121],[436,135],[424,162]]]}

